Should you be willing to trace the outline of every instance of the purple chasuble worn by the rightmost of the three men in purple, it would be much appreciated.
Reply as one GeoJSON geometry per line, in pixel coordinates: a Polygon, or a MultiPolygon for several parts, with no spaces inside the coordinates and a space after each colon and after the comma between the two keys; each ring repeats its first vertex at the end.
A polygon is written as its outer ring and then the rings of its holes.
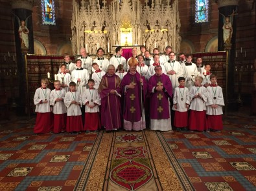
{"type": "Polygon", "coordinates": [[[169,119],[169,101],[172,97],[172,83],[166,74],[152,75],[148,80],[148,94],[150,94],[150,119],[169,119]],[[163,91],[156,91],[157,84],[163,85],[163,91]],[[155,88],[154,93],[152,89],[155,88]]]}

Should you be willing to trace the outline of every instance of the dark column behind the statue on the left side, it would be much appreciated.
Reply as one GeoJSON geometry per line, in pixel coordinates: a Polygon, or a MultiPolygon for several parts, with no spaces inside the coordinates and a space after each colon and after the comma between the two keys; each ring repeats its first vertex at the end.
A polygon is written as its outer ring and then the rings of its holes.
{"type": "MultiPolygon", "coordinates": [[[[17,85],[19,86],[19,101],[17,103],[17,114],[23,115],[26,110],[26,70],[25,70],[25,54],[34,54],[34,38],[33,38],[33,25],[32,25],[32,0],[14,0],[12,3],[12,14],[14,20],[14,37],[16,44],[16,57],[17,57],[17,85]],[[19,36],[19,26],[21,21],[25,21],[25,25],[29,30],[28,43],[22,43],[19,36]],[[27,46],[28,47],[27,47],[27,46]]],[[[27,30],[24,30],[25,32],[27,30]]],[[[29,108],[27,108],[29,111],[29,108]]]]}

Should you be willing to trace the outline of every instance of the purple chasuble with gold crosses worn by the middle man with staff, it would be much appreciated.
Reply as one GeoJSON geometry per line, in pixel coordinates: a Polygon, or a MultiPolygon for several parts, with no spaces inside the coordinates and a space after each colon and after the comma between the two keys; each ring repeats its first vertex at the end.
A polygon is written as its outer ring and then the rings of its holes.
{"type": "MultiPolygon", "coordinates": [[[[145,77],[142,77],[143,79],[143,98],[142,100],[145,100],[145,92],[146,92],[146,80],[145,77]]],[[[124,75],[124,78],[121,82],[121,88],[122,88],[122,95],[124,95],[124,111],[123,111],[123,117],[126,121],[130,122],[138,122],[141,120],[141,83],[140,83],[140,75],[138,72],[136,72],[134,75],[130,74],[128,72],[126,75],[124,75]],[[135,88],[126,88],[126,85],[130,85],[131,83],[135,84],[135,88]]],[[[144,105],[144,103],[143,103],[144,105]]]]}

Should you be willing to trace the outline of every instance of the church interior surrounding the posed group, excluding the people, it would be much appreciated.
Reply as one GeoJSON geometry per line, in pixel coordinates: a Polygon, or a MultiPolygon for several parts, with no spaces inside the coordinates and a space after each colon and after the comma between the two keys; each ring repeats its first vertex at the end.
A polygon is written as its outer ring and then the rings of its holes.
{"type": "Polygon", "coordinates": [[[255,0],[1,0],[0,10],[0,190],[255,190],[255,0]],[[33,133],[35,90],[47,73],[53,88],[65,53],[103,48],[110,59],[121,46],[128,59],[142,45],[211,63],[222,132],[33,133]]]}

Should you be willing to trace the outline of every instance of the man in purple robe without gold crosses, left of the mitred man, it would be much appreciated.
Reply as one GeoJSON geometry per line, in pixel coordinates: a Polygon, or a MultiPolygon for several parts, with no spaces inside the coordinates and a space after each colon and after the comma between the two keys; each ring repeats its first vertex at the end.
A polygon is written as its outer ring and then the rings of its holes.
{"type": "Polygon", "coordinates": [[[115,75],[115,66],[109,65],[99,85],[101,124],[107,131],[121,128],[121,79],[115,75]]]}

